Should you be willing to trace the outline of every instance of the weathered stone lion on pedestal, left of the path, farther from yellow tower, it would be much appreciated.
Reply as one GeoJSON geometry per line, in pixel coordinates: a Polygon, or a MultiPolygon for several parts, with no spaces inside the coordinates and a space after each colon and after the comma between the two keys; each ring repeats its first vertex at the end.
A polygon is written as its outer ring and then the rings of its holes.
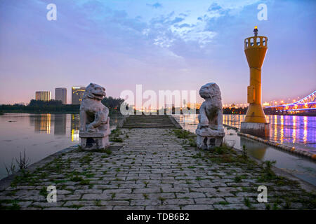
{"type": "Polygon", "coordinates": [[[86,87],[80,106],[81,148],[100,149],[110,146],[109,109],[102,104],[103,97],[104,87],[94,83],[86,87]]]}

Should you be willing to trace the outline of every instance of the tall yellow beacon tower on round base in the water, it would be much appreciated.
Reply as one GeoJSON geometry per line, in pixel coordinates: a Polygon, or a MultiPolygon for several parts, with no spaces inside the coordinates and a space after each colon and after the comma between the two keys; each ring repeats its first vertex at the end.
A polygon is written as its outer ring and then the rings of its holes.
{"type": "Polygon", "coordinates": [[[254,28],[254,36],[244,40],[244,52],[250,68],[250,85],[247,89],[249,108],[242,122],[240,131],[257,137],[270,137],[270,123],[265,120],[261,106],[261,66],[267,52],[268,38],[258,36],[258,28],[254,28]]]}

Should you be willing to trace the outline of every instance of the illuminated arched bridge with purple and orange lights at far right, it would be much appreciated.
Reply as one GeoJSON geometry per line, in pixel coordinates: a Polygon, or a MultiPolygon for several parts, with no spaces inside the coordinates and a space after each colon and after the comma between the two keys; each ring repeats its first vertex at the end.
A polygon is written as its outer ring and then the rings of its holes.
{"type": "Polygon", "coordinates": [[[315,96],[316,91],[297,102],[277,106],[267,106],[264,110],[266,114],[297,114],[316,116],[315,96]]]}

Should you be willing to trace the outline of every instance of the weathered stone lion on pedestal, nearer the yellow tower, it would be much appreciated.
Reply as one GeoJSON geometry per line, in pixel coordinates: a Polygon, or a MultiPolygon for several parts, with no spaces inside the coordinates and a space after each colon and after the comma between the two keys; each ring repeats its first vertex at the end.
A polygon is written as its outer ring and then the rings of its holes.
{"type": "Polygon", "coordinates": [[[210,149],[223,143],[223,112],[220,88],[216,83],[202,85],[199,95],[205,99],[199,109],[197,125],[197,147],[210,149]]]}

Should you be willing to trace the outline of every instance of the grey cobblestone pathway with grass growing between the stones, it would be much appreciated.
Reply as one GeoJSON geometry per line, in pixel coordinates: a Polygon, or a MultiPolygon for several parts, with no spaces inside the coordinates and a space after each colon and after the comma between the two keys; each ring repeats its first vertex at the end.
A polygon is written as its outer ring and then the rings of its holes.
{"type": "MultiPolygon", "coordinates": [[[[305,208],[298,186],[261,183],[260,167],[206,159],[166,129],[124,129],[119,151],[77,148],[15,177],[0,192],[1,209],[282,209],[305,208]],[[56,186],[57,202],[46,201],[56,186]],[[257,187],[268,187],[258,203],[257,187]],[[286,197],[300,195],[289,202],[286,197]],[[285,195],[285,196],[284,196],[285,195]]],[[[313,197],[313,198],[310,198],[313,197]]],[[[315,208],[314,208],[315,209],[315,208]]]]}

